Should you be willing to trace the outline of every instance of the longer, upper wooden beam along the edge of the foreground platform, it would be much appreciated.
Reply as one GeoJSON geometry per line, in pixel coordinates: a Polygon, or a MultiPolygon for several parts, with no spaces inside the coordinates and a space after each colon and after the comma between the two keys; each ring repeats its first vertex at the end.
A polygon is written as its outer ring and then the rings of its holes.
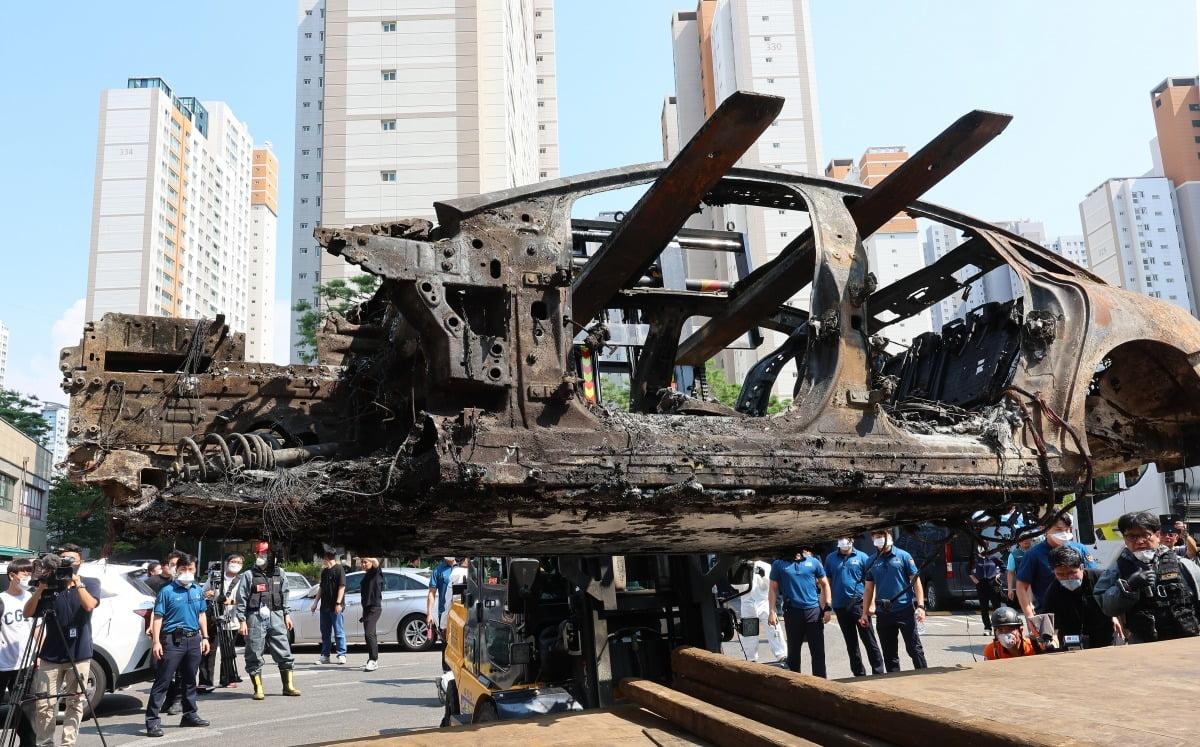
{"type": "MultiPolygon", "coordinates": [[[[739,662],[700,649],[676,649],[671,653],[671,668],[677,676],[728,693],[755,693],[756,698],[769,705],[896,745],[1020,747],[1080,743],[1078,740],[1046,735],[1040,730],[1014,729],[1010,723],[1014,717],[1012,711],[1004,722],[992,721],[895,693],[866,695],[840,682],[739,662]]],[[[919,673],[919,676],[926,676],[925,671],[919,673]]],[[[1042,680],[1043,686],[1046,680],[1042,680]]],[[[944,681],[942,686],[946,687],[944,681]]],[[[977,695],[979,692],[985,691],[974,691],[977,695]]],[[[1020,703],[1010,698],[1002,700],[1009,705],[1020,703]]]]}

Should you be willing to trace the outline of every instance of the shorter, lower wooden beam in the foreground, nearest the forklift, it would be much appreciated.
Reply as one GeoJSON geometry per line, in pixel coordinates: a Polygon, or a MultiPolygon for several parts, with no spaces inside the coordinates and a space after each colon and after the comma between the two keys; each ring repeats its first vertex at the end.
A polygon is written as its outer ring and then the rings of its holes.
{"type": "Polygon", "coordinates": [[[720,747],[816,743],[649,680],[622,680],[620,691],[642,707],[720,747]]]}

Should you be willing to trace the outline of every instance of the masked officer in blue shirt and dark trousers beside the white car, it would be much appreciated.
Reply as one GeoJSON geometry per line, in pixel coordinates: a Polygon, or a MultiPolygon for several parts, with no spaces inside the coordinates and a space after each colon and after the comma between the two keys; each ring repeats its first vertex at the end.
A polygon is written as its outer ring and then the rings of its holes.
{"type": "Polygon", "coordinates": [[[146,703],[146,735],[162,736],[158,710],[167,697],[175,671],[181,673],[184,718],[180,727],[206,727],[196,710],[196,671],[200,657],[209,652],[206,603],[204,592],[196,584],[196,558],[184,555],[176,566],[175,580],[158,591],[154,616],[150,620],[154,657],[160,659],[150,700],[146,703]]]}

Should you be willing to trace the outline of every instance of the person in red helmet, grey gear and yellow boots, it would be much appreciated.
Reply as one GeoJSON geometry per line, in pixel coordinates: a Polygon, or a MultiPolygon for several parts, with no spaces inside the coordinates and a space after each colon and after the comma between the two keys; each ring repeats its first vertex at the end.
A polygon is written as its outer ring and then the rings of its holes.
{"type": "Polygon", "coordinates": [[[263,652],[271,651],[271,658],[280,668],[284,695],[299,695],[292,680],[292,609],[288,605],[288,581],[283,568],[271,555],[265,542],[254,544],[254,566],[241,574],[238,585],[238,622],[246,638],[246,674],[254,685],[254,700],[263,700],[263,652]]]}

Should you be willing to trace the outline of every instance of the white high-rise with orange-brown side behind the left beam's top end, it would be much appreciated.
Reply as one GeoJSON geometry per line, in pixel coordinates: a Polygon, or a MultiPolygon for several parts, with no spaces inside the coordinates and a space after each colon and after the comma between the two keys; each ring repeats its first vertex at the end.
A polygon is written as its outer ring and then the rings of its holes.
{"type": "MultiPolygon", "coordinates": [[[[674,157],[730,94],[745,90],[782,96],[786,102],[738,165],[818,172],[821,129],[808,0],[700,0],[695,10],[672,16],[671,34],[676,91],[664,106],[666,159],[674,157]]],[[[743,205],[708,209],[688,225],[743,233],[751,267],[773,259],[809,227],[805,213],[743,205]]],[[[730,280],[737,270],[726,253],[690,251],[688,274],[730,280]]],[[[806,306],[808,289],[792,303],[806,306]]],[[[785,339],[778,333],[766,337],[764,351],[785,339]]],[[[758,357],[760,351],[737,351],[720,357],[718,365],[732,367],[733,378],[740,381],[758,357]]],[[[791,395],[794,376],[792,366],[780,375],[780,394],[791,395]]]]}

